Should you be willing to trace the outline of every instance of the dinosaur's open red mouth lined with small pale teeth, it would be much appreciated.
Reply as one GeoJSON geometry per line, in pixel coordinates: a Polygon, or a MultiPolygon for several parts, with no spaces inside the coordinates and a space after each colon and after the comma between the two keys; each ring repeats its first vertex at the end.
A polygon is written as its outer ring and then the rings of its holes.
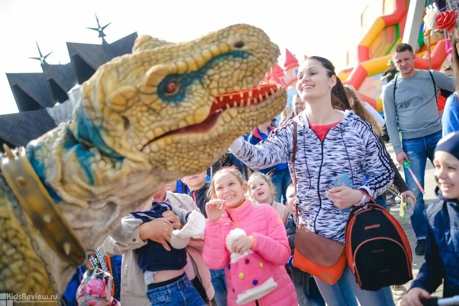
{"type": "Polygon", "coordinates": [[[215,98],[209,115],[205,120],[198,124],[192,124],[182,127],[181,129],[170,131],[152,139],[143,145],[142,151],[144,151],[145,147],[148,147],[150,144],[164,137],[177,136],[179,134],[207,133],[217,124],[220,116],[227,110],[250,109],[252,111],[256,111],[258,108],[266,107],[267,104],[270,104],[271,100],[275,99],[284,91],[285,88],[283,86],[279,86],[277,84],[263,84],[248,90],[219,95],[215,98]]]}

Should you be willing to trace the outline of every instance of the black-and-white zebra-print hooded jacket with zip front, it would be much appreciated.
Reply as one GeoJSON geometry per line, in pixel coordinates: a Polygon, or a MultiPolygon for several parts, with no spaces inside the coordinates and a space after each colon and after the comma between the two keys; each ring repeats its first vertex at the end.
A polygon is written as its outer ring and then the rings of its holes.
{"type": "Polygon", "coordinates": [[[373,198],[382,194],[394,179],[386,151],[371,125],[353,111],[344,113],[344,118],[328,131],[323,142],[310,129],[305,114],[301,113],[283,123],[259,144],[251,145],[238,138],[230,149],[252,169],[288,162],[293,177],[293,120],[298,123],[296,202],[301,221],[323,237],[344,242],[349,210],[338,209],[325,191],[334,187],[336,176],[347,173],[352,189],[364,190],[373,198]],[[366,182],[365,174],[368,174],[366,182]]]}

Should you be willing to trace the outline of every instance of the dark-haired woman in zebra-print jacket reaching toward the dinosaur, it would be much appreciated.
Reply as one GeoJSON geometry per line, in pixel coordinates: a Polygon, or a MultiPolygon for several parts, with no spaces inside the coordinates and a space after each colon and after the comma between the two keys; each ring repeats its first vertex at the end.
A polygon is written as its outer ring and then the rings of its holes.
{"type": "MultiPolygon", "coordinates": [[[[301,222],[309,230],[344,242],[344,228],[353,205],[362,205],[367,197],[383,193],[394,178],[386,151],[370,124],[353,111],[339,111],[343,104],[350,109],[335,67],[321,57],[306,59],[298,70],[296,89],[306,108],[292,120],[284,122],[257,145],[238,138],[230,149],[252,169],[289,163],[293,177],[293,121],[297,128],[295,172],[296,202],[301,222]],[[348,175],[350,187],[334,187],[337,176],[348,175]],[[368,180],[365,181],[365,174],[368,180]]],[[[396,260],[396,259],[394,259],[396,260]]],[[[316,278],[328,305],[393,305],[389,287],[378,291],[359,288],[350,269],[334,285],[316,278]]]]}

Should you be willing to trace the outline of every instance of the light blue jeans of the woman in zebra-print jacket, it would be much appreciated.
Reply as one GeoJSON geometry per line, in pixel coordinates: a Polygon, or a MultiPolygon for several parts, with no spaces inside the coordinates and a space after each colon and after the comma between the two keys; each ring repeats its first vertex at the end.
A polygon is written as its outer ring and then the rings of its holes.
{"type": "Polygon", "coordinates": [[[334,285],[328,285],[315,276],[314,278],[328,306],[357,306],[357,300],[361,305],[395,306],[390,287],[384,287],[378,291],[360,289],[355,282],[355,276],[347,265],[343,275],[334,285]]]}

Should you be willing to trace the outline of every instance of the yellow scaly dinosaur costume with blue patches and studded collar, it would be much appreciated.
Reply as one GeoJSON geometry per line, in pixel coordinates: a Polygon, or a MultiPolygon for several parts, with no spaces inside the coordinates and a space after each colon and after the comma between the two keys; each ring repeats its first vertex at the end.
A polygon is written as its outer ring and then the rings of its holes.
{"type": "Polygon", "coordinates": [[[238,24],[177,44],[142,36],[101,66],[72,121],[0,157],[0,292],[62,294],[157,186],[206,169],[281,112],[285,88],[260,85],[278,55],[238,24]]]}

